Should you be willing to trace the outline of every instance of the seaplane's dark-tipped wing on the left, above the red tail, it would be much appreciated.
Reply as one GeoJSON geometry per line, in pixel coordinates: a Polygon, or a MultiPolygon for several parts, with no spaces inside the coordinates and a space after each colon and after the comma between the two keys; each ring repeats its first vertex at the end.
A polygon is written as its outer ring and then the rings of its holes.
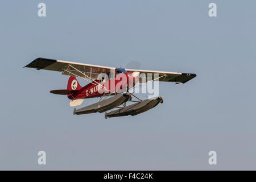
{"type": "Polygon", "coordinates": [[[61,60],[55,60],[55,59],[46,59],[42,57],[35,59],[25,67],[58,71],[58,72],[62,72],[63,75],[69,75],[69,76],[74,76],[73,74],[75,74],[77,76],[84,77],[83,74],[85,74],[92,79],[97,79],[97,76],[100,73],[108,74],[110,73],[111,70],[115,69],[112,67],[102,67],[102,66],[92,65],[92,64],[75,63],[75,62],[61,61],[61,60]]]}

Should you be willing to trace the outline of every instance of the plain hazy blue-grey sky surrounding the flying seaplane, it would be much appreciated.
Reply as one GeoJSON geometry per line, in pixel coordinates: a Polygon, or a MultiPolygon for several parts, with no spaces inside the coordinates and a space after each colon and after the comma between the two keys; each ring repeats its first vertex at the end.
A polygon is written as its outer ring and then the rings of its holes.
{"type": "MultiPolygon", "coordinates": [[[[255,1],[1,1],[0,169],[256,169],[255,1]],[[46,3],[46,17],[38,3],[46,3]],[[208,5],[217,4],[210,18],[208,5]],[[196,73],[134,117],[73,115],[36,57],[196,73]],[[38,165],[38,151],[47,155],[38,165]],[[217,165],[208,152],[217,152],[217,165]]],[[[87,84],[79,80],[81,85],[87,84]]],[[[96,100],[85,100],[84,105],[96,100]]]]}

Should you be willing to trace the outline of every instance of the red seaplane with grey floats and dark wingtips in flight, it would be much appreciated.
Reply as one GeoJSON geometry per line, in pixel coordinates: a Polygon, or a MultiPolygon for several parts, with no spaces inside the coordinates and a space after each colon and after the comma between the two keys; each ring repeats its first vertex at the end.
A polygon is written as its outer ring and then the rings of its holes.
{"type": "Polygon", "coordinates": [[[175,82],[176,84],[181,82],[184,84],[196,77],[194,73],[102,67],[41,57],[35,59],[25,67],[36,68],[38,70],[47,69],[59,71],[62,72],[62,75],[71,76],[68,80],[67,89],[51,90],[50,92],[67,95],[71,100],[70,106],[81,105],[85,98],[100,97],[100,101],[95,104],[82,107],[81,109],[74,109],[73,114],[102,113],[118,108],[117,110],[105,113],[105,118],[137,115],[152,109],[152,107],[158,105],[159,102],[163,102],[162,97],[141,100],[139,97],[135,96],[135,94],[129,92],[129,89],[134,88],[137,83],[147,84],[151,81],[167,81],[175,82]],[[147,79],[148,75],[150,75],[150,79],[147,79]],[[81,86],[76,80],[76,77],[88,81],[89,84],[81,86]],[[148,81],[146,82],[146,80],[148,81]],[[133,97],[135,97],[136,100],[132,100],[133,97]],[[135,102],[135,104],[126,105],[127,101],[135,102]]]}

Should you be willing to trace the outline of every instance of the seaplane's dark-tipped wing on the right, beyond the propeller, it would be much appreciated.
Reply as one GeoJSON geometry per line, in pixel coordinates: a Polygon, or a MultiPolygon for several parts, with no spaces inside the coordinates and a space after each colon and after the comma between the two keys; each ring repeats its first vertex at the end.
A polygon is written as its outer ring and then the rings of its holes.
{"type": "MultiPolygon", "coordinates": [[[[148,71],[148,70],[140,70],[140,69],[126,69],[127,72],[140,72],[141,76],[142,73],[148,77],[148,73],[152,74],[152,80],[156,79],[154,77],[155,73],[158,73],[158,81],[169,81],[169,82],[181,82],[185,83],[192,78],[196,77],[195,73],[178,73],[178,72],[162,72],[162,71],[148,71]]],[[[142,76],[143,77],[143,76],[142,76]]]]}

